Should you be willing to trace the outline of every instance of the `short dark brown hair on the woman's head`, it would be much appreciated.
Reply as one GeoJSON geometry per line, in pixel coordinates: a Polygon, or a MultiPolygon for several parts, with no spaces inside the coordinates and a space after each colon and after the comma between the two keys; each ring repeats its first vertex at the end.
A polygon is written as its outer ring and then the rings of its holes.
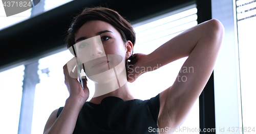
{"type": "Polygon", "coordinates": [[[118,12],[104,7],[86,8],[81,14],[77,15],[66,37],[67,47],[71,47],[75,44],[75,33],[81,28],[81,26],[90,20],[101,20],[110,23],[120,33],[122,40],[126,42],[130,40],[135,45],[135,32],[132,25],[125,20],[118,12]]]}

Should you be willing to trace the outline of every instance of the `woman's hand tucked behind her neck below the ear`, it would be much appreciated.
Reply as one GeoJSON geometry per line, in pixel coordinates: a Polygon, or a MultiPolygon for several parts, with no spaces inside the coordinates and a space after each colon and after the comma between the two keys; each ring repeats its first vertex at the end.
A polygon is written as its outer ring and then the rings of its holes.
{"type": "Polygon", "coordinates": [[[147,55],[143,53],[135,53],[129,59],[131,62],[129,64],[129,71],[127,72],[127,81],[132,83],[134,82],[141,74],[146,72],[145,57],[147,55]]]}

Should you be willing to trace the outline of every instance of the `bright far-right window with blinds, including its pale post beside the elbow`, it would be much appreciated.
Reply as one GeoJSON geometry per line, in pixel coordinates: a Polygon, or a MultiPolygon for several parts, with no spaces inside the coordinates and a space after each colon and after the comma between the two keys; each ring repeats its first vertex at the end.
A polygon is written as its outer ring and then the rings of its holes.
{"type": "Polygon", "coordinates": [[[211,1],[212,18],[225,28],[214,70],[216,133],[255,133],[255,2],[211,1]]]}

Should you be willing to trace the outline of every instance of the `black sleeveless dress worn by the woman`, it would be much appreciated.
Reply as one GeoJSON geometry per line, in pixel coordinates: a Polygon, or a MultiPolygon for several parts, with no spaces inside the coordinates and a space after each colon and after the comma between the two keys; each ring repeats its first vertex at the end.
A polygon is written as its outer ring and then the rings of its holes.
{"type": "MultiPolygon", "coordinates": [[[[59,108],[57,118],[63,107],[59,108]]],[[[123,100],[108,96],[100,104],[84,103],[73,133],[158,133],[159,94],[151,99],[123,100]]]]}

